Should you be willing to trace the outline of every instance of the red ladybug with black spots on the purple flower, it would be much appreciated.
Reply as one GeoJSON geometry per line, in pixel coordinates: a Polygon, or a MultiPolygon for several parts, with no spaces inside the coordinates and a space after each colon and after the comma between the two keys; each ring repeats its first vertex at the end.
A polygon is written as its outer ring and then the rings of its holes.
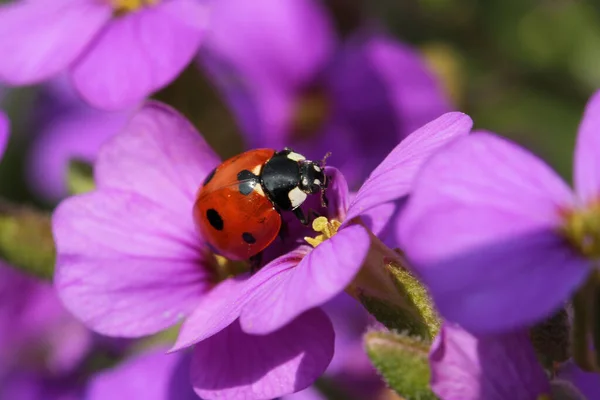
{"type": "Polygon", "coordinates": [[[307,225],[300,208],[307,197],[320,193],[326,205],[324,162],[288,148],[250,150],[224,161],[208,174],[194,204],[202,237],[220,255],[256,265],[281,232],[282,211],[307,225]]]}

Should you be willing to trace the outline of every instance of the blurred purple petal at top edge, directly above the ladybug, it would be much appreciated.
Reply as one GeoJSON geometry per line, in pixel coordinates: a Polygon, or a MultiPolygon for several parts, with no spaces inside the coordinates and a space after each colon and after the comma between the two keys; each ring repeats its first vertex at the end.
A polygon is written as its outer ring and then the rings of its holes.
{"type": "Polygon", "coordinates": [[[234,110],[249,147],[281,148],[296,92],[325,66],[334,42],[318,2],[224,0],[215,2],[200,61],[234,110]]]}

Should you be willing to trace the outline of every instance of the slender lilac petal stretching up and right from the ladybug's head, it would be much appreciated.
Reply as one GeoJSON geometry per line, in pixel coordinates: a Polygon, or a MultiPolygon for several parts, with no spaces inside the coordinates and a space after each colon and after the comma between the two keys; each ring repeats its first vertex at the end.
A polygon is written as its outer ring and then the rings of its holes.
{"type": "Polygon", "coordinates": [[[439,117],[406,137],[371,173],[360,188],[346,221],[381,204],[398,200],[412,189],[423,163],[439,148],[457,137],[467,135],[472,121],[467,115],[452,112],[439,117]]]}

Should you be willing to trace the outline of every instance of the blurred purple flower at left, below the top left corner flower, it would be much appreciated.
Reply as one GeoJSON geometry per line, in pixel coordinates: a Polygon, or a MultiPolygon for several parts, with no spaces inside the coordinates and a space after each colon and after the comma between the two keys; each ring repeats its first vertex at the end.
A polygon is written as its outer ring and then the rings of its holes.
{"type": "Polygon", "coordinates": [[[37,108],[38,132],[28,154],[27,178],[36,194],[52,202],[68,194],[69,162],[94,162],[100,146],[123,129],[134,110],[92,108],[77,96],[65,76],[42,88],[37,108]]]}

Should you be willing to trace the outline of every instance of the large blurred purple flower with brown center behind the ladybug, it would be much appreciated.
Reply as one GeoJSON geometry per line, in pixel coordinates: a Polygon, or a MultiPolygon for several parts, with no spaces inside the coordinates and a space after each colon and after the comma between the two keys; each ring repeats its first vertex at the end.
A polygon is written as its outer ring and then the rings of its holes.
{"type": "Polygon", "coordinates": [[[352,188],[450,108],[414,50],[366,31],[341,41],[313,0],[215,2],[200,62],[249,147],[331,151],[352,188]]]}

